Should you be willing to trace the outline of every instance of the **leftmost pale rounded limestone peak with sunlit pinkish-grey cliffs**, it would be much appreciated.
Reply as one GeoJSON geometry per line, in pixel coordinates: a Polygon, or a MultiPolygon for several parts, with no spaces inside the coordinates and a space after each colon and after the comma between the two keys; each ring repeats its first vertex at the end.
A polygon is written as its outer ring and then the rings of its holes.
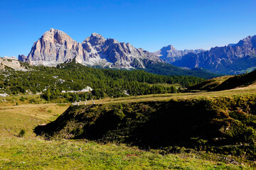
{"type": "Polygon", "coordinates": [[[63,31],[51,28],[33,44],[28,57],[19,57],[19,60],[32,65],[55,66],[74,57],[82,58],[84,53],[80,43],[63,31]]]}

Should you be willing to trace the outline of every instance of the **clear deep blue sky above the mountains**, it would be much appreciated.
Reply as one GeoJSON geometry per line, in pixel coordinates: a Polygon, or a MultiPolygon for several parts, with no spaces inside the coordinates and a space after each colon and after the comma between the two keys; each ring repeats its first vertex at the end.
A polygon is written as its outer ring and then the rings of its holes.
{"type": "Polygon", "coordinates": [[[154,52],[210,49],[256,35],[255,0],[0,0],[0,56],[28,55],[55,28],[82,42],[91,33],[154,52]]]}

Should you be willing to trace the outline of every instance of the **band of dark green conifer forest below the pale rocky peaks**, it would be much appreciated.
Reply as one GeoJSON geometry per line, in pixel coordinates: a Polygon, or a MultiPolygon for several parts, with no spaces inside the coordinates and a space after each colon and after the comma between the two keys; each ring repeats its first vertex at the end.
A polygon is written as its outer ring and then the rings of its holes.
{"type": "MultiPolygon", "coordinates": [[[[177,93],[181,88],[201,83],[204,79],[191,76],[164,76],[143,70],[116,70],[85,67],[81,64],[59,64],[57,67],[31,67],[31,71],[2,71],[0,88],[7,94],[38,94],[47,101],[65,98],[65,102],[90,98],[124,97],[177,93]],[[162,86],[161,84],[170,84],[162,86]],[[172,85],[171,85],[172,84],[172,85]],[[179,84],[178,87],[174,84],[179,84]],[[80,91],[87,93],[62,93],[80,91]]],[[[63,101],[64,102],[64,101],[63,101]]]]}

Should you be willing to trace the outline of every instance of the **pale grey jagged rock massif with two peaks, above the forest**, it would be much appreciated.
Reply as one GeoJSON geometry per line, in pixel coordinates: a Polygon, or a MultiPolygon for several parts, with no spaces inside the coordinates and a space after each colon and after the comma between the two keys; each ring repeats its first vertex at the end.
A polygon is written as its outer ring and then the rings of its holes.
{"type": "Polygon", "coordinates": [[[144,68],[143,60],[161,62],[156,55],[137,49],[129,43],[105,39],[102,35],[92,33],[82,43],[76,42],[61,30],[51,28],[33,44],[28,57],[19,55],[18,60],[32,65],[55,67],[64,62],[75,62],[110,68],[144,68]]]}

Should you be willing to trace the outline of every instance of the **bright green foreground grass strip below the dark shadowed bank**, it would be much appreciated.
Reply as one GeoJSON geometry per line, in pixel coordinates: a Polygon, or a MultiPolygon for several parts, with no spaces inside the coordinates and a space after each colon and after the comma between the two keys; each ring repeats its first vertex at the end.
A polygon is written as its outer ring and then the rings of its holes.
{"type": "Polygon", "coordinates": [[[0,169],[252,169],[196,154],[146,152],[137,147],[78,140],[8,137],[0,140],[0,169]]]}

